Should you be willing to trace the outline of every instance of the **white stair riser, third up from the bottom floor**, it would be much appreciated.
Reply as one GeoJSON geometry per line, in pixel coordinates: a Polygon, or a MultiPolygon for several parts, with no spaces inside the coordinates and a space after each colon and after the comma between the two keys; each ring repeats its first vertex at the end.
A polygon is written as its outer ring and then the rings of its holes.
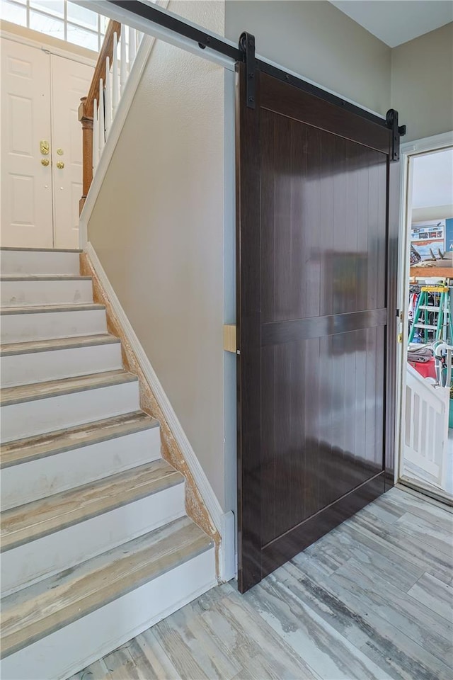
{"type": "Polygon", "coordinates": [[[47,455],[1,470],[1,509],[101,480],[161,457],[159,427],[47,455]]]}

